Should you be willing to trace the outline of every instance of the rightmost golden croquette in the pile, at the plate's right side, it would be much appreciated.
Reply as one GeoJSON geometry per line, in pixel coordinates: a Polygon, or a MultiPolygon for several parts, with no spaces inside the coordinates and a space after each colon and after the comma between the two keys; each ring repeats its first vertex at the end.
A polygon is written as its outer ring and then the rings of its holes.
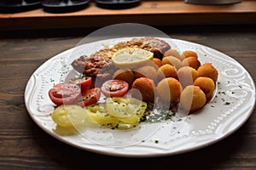
{"type": "Polygon", "coordinates": [[[218,80],[218,71],[215,67],[212,66],[211,63],[205,63],[201,65],[198,69],[199,77],[209,77],[212,78],[213,82],[217,82],[218,80]]]}

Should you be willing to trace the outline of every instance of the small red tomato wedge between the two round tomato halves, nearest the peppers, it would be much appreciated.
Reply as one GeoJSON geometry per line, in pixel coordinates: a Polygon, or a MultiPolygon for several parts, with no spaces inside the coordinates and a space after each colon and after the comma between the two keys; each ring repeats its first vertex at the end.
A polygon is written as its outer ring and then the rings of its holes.
{"type": "Polygon", "coordinates": [[[78,105],[92,105],[96,104],[98,99],[101,97],[100,88],[91,88],[82,94],[82,101],[79,101],[78,105]]]}

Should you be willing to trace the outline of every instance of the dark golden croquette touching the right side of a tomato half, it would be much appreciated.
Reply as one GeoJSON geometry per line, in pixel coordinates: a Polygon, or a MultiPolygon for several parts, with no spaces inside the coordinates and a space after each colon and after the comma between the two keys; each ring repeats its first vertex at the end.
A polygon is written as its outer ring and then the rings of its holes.
{"type": "Polygon", "coordinates": [[[137,78],[131,86],[131,89],[137,89],[140,94],[131,93],[131,96],[139,99],[141,96],[143,101],[154,101],[154,81],[147,77],[137,78]]]}

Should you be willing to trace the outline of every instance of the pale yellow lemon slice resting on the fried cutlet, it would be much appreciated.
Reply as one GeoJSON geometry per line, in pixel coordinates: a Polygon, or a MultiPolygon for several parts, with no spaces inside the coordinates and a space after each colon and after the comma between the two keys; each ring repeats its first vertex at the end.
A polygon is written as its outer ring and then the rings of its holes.
{"type": "Polygon", "coordinates": [[[137,68],[153,62],[154,54],[141,48],[124,48],[113,54],[113,65],[119,68],[137,68]]]}

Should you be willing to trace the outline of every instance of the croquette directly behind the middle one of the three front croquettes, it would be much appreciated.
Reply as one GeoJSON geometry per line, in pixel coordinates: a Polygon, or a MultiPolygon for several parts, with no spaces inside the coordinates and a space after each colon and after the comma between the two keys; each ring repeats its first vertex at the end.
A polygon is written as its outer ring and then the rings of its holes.
{"type": "Polygon", "coordinates": [[[165,78],[165,77],[177,77],[177,71],[174,66],[172,65],[162,65],[157,70],[156,75],[158,80],[165,78]]]}

